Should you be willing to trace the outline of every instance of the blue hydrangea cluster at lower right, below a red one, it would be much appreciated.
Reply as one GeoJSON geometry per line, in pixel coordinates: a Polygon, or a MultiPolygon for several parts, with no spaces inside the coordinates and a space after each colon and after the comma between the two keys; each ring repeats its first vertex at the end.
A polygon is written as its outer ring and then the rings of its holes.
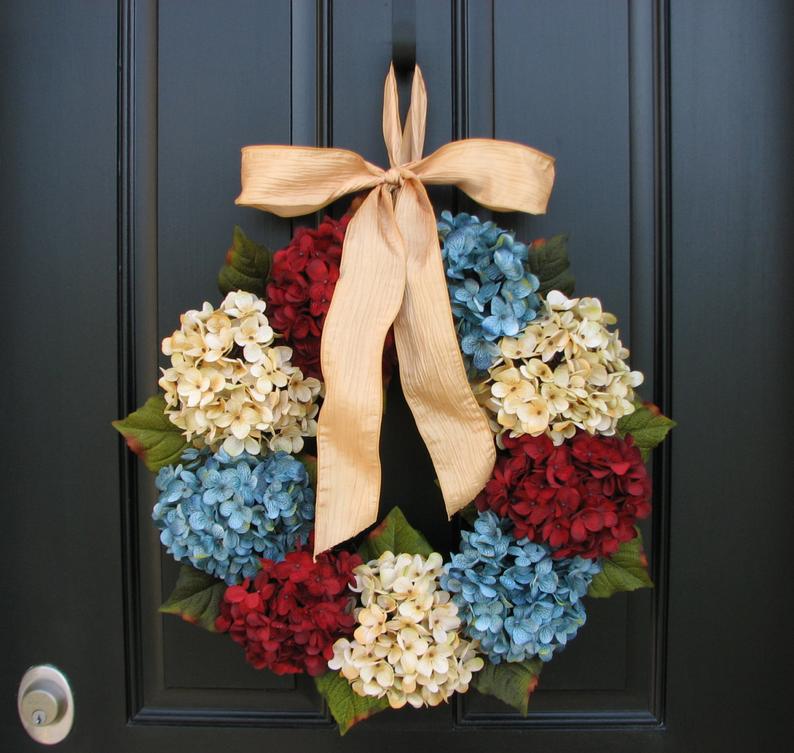
{"type": "Polygon", "coordinates": [[[516,541],[512,524],[490,510],[444,567],[441,586],[458,606],[464,632],[494,664],[535,656],[549,661],[584,625],[582,597],[598,560],[555,560],[544,544],[516,541]]]}

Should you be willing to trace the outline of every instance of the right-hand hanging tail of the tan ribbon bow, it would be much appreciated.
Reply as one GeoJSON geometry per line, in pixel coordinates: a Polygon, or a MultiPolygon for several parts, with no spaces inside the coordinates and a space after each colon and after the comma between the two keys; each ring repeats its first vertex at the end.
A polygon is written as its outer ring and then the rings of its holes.
{"type": "Polygon", "coordinates": [[[405,295],[394,322],[400,382],[451,518],[485,486],[496,451],[466,378],[433,207],[418,180],[405,182],[395,218],[407,262],[405,295]]]}

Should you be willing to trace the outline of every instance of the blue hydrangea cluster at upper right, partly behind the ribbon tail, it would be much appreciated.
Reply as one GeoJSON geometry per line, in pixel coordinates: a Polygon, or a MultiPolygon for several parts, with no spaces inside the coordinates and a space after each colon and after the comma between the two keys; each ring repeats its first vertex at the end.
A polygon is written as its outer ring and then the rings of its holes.
{"type": "Polygon", "coordinates": [[[527,269],[529,249],[493,222],[442,212],[438,221],[452,314],[465,360],[486,371],[496,343],[517,335],[538,314],[538,278],[527,269]]]}

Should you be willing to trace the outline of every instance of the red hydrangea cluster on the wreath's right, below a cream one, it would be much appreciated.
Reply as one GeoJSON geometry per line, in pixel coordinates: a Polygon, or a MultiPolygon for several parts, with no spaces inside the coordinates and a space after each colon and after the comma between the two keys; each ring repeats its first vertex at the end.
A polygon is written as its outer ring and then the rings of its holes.
{"type": "Polygon", "coordinates": [[[651,512],[651,483],[631,437],[579,431],[559,447],[545,435],[505,437],[493,476],[477,497],[515,524],[516,538],[543,541],[555,559],[610,557],[651,512]]]}

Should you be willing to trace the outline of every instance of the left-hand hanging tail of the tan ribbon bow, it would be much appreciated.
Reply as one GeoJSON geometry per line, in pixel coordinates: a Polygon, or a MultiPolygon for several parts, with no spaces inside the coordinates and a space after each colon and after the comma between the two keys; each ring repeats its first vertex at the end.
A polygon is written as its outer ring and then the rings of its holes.
{"type": "Polygon", "coordinates": [[[383,342],[405,288],[405,251],[388,188],[348,225],[323,326],[325,402],[317,432],[315,556],[376,522],[380,498],[383,342]]]}

